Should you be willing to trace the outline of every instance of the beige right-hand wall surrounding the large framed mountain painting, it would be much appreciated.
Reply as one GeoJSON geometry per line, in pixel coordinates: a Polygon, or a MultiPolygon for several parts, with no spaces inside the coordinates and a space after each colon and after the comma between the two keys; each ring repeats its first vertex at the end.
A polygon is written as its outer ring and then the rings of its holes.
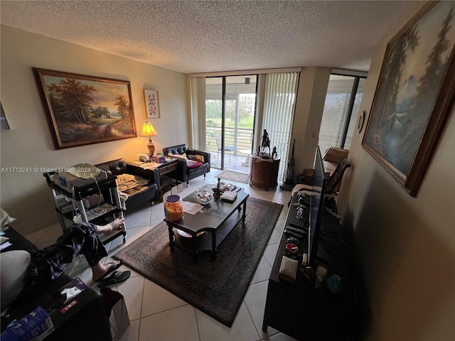
{"type": "MultiPolygon", "coordinates": [[[[422,3],[414,4],[417,13],[422,3]]],[[[360,112],[370,112],[387,42],[376,46],[360,112]]],[[[451,109],[417,197],[361,146],[355,133],[341,186],[343,221],[353,224],[373,324],[368,340],[453,340],[455,335],[455,117],[451,109]]]]}

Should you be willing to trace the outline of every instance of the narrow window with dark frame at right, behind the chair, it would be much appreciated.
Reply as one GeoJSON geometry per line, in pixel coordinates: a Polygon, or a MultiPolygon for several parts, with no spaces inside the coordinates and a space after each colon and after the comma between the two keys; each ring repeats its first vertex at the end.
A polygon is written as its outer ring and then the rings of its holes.
{"type": "Polygon", "coordinates": [[[365,77],[331,75],[324,104],[319,147],[350,148],[358,109],[365,89],[365,77]]]}

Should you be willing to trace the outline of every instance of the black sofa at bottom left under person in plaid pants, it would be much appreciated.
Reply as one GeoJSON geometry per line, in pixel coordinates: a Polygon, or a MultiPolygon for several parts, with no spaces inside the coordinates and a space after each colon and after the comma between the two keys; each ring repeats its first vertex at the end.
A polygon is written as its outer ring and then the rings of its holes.
{"type": "MultiPolygon", "coordinates": [[[[2,227],[2,230],[4,230],[4,227],[2,227]]],[[[9,242],[12,244],[6,249],[1,250],[0,257],[4,256],[5,259],[7,258],[5,252],[36,249],[33,243],[16,232],[12,227],[8,227],[2,237],[9,238],[9,242]]],[[[8,272],[6,269],[1,270],[2,301],[6,300],[6,297],[9,296],[9,293],[6,292],[8,289],[3,285],[3,277],[6,276],[6,272],[8,272]]],[[[45,288],[37,290],[32,298],[27,297],[26,299],[21,299],[21,296],[19,296],[9,303],[7,308],[2,307],[4,308],[2,310],[5,310],[6,313],[1,316],[1,331],[3,332],[11,321],[20,320],[32,310],[41,306],[48,312],[55,328],[45,338],[46,341],[112,340],[105,301],[101,294],[93,288],[87,288],[75,296],[74,299],[77,301],[77,304],[66,313],[62,313],[62,309],[71,301],[63,305],[60,304],[59,289],[70,281],[73,281],[73,278],[63,274],[51,281],[45,288]]]]}

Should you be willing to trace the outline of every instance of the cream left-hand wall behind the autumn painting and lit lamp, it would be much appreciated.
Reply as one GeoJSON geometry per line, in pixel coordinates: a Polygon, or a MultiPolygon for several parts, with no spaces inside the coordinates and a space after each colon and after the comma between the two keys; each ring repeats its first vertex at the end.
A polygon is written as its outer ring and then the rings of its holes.
{"type": "Polygon", "coordinates": [[[129,80],[138,134],[146,120],[144,88],[159,90],[161,119],[152,124],[158,151],[188,143],[186,75],[79,45],[38,36],[7,26],[1,28],[1,103],[10,131],[1,131],[1,207],[28,234],[56,222],[53,201],[41,171],[77,163],[101,163],[114,158],[137,159],[147,151],[146,138],[55,150],[32,67],[129,80]],[[6,168],[31,167],[31,173],[6,168]]]}

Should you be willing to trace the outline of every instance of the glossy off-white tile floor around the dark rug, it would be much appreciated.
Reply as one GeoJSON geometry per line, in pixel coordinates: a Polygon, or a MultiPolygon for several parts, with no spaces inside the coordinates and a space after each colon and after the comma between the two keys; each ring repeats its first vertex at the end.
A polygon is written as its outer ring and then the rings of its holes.
{"type": "MultiPolygon", "coordinates": [[[[191,180],[188,188],[184,188],[180,195],[184,197],[207,183],[215,183],[215,175],[219,172],[219,170],[213,170],[208,173],[206,178],[200,176],[191,180]]],[[[267,332],[262,332],[267,281],[286,220],[287,202],[291,193],[279,190],[279,187],[276,190],[265,191],[242,183],[236,183],[236,185],[245,188],[245,191],[252,197],[283,204],[284,208],[232,327],[228,328],[218,323],[218,321],[200,312],[154,282],[137,274],[127,266],[122,266],[120,270],[131,270],[132,276],[123,283],[111,286],[124,296],[131,321],[129,328],[122,335],[122,341],[294,340],[273,328],[269,328],[267,332]]],[[[153,206],[146,204],[134,212],[125,211],[125,219],[127,225],[126,244],[129,244],[163,221],[163,203],[155,202],[153,206]]],[[[54,224],[27,237],[38,247],[44,247],[53,244],[60,234],[60,225],[54,224]]],[[[111,256],[126,244],[123,244],[122,238],[117,238],[107,244],[109,256],[104,261],[110,261],[111,256]]],[[[96,288],[95,283],[92,283],[91,280],[92,272],[87,269],[87,266],[84,257],[80,256],[68,266],[67,272],[70,276],[79,276],[87,286],[96,288]]]]}

